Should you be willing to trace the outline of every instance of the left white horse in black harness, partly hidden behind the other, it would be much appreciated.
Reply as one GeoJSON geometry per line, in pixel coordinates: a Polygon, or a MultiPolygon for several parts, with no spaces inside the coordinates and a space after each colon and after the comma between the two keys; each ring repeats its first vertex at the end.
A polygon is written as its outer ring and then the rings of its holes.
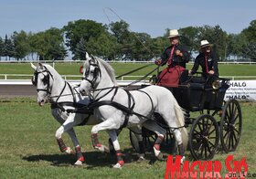
{"type": "Polygon", "coordinates": [[[53,117],[62,124],[55,134],[60,151],[62,153],[76,153],[77,162],[74,164],[81,165],[84,162],[84,157],[80,151],[80,143],[77,140],[73,127],[81,123],[94,125],[101,121],[93,118],[88,113],[78,113],[75,111],[78,107],[86,107],[90,100],[88,97],[80,95],[77,87],[71,87],[54,68],[48,64],[41,63],[37,67],[31,64],[31,67],[35,69],[32,82],[37,87],[38,104],[43,106],[45,102],[49,101],[53,117]],[[75,147],[75,152],[63,142],[61,138],[63,132],[69,133],[75,147]]]}

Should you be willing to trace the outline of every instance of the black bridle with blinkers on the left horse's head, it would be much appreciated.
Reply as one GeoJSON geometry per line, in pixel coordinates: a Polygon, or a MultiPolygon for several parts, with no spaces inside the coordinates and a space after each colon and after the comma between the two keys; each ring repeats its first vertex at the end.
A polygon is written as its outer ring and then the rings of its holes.
{"type": "Polygon", "coordinates": [[[51,89],[50,89],[50,84],[49,84],[49,77],[51,77],[51,79],[53,79],[53,76],[52,74],[48,71],[48,69],[45,69],[43,71],[35,71],[34,73],[34,76],[32,77],[31,81],[32,81],[32,84],[34,86],[37,87],[37,79],[38,79],[38,74],[42,73],[44,75],[44,79],[42,79],[42,82],[44,84],[47,84],[47,87],[45,89],[37,89],[37,92],[38,91],[46,91],[47,92],[47,95],[51,94],[51,89]],[[44,72],[47,72],[47,75],[44,74],[44,72]]]}

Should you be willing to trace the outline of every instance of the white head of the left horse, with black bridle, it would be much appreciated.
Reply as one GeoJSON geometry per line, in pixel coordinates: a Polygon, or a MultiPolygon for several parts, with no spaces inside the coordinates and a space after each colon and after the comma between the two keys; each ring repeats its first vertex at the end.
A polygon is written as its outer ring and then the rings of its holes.
{"type": "Polygon", "coordinates": [[[37,103],[43,106],[48,102],[48,97],[51,94],[53,75],[50,70],[43,65],[38,63],[36,67],[31,63],[31,68],[35,69],[34,76],[32,77],[32,84],[37,87],[37,103]]]}

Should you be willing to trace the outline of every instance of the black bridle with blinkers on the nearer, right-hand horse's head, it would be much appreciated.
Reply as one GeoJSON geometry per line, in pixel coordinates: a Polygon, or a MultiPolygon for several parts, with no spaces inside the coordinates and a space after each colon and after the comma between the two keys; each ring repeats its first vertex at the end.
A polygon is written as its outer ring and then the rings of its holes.
{"type": "Polygon", "coordinates": [[[91,62],[91,60],[89,60],[89,68],[86,69],[85,73],[84,73],[84,77],[82,77],[82,80],[87,80],[90,84],[91,84],[91,89],[95,90],[96,87],[96,80],[98,79],[98,77],[101,78],[101,68],[99,67],[99,62],[97,60],[95,60],[96,63],[91,62]],[[90,68],[94,67],[94,70],[91,72],[90,68]],[[88,79],[90,74],[93,73],[93,78],[92,79],[88,79]]]}

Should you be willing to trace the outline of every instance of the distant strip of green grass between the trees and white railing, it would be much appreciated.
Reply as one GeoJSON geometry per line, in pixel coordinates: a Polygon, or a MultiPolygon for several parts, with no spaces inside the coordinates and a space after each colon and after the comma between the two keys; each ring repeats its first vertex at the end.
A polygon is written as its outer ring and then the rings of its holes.
{"type": "MultiPolygon", "coordinates": [[[[35,64],[36,65],[36,64],[35,64]]],[[[80,75],[79,68],[81,64],[71,64],[71,63],[57,63],[55,68],[61,75],[80,75]]],[[[143,63],[111,63],[112,67],[115,70],[116,76],[119,76],[123,73],[133,70],[134,68],[143,67],[143,63]]],[[[152,65],[148,68],[139,70],[132,76],[144,76],[151,70],[156,68],[155,65],[152,65]]],[[[187,65],[187,68],[192,68],[192,65],[187,65]]],[[[0,74],[33,74],[34,70],[30,67],[30,64],[0,64],[0,74]]],[[[156,74],[156,72],[155,72],[156,74]]],[[[219,74],[220,76],[256,76],[256,65],[250,64],[219,64],[219,74]]],[[[0,76],[0,79],[4,77],[0,76]]]]}

